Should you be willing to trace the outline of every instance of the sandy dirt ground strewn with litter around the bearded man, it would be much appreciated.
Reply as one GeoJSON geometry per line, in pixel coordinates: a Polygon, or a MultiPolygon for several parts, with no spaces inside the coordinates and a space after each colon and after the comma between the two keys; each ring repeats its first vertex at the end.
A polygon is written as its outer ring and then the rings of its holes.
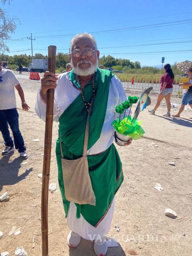
{"type": "MultiPolygon", "coordinates": [[[[34,95],[40,83],[21,79],[21,84],[24,92],[29,92],[31,100],[35,101],[34,95]]],[[[156,95],[151,99],[154,104],[156,95]]],[[[180,103],[181,99],[171,98],[171,102],[180,103]]],[[[165,111],[165,104],[160,107],[161,111],[165,111]]],[[[18,112],[29,157],[21,160],[17,151],[9,156],[0,156],[0,195],[8,191],[10,196],[8,202],[0,203],[0,231],[4,233],[0,239],[0,252],[9,251],[14,255],[15,248],[23,246],[28,256],[40,256],[41,180],[38,174],[42,173],[43,166],[45,123],[33,113],[33,108],[31,112],[21,109],[18,112]],[[40,141],[32,142],[32,139],[40,141]],[[21,227],[21,234],[8,236],[12,226],[21,227]],[[35,247],[32,248],[34,235],[35,247]]],[[[183,115],[190,117],[192,111],[185,111],[183,115]]],[[[147,119],[144,122],[148,122],[147,119]]],[[[175,130],[184,129],[176,125],[179,129],[175,130]]],[[[81,239],[74,249],[69,248],[66,242],[69,229],[58,190],[54,154],[57,126],[57,123],[53,124],[50,183],[56,183],[57,190],[49,193],[49,256],[95,256],[91,241],[81,239]]],[[[152,129],[153,124],[149,126],[152,129]]],[[[188,135],[185,136],[183,139],[187,139],[188,135]]],[[[116,195],[115,213],[108,235],[117,239],[119,247],[108,248],[107,256],[128,256],[130,249],[142,256],[192,256],[191,145],[166,142],[166,137],[162,140],[165,142],[155,139],[142,138],[128,147],[117,146],[124,182],[116,195]],[[175,166],[168,162],[175,162],[175,166]],[[154,189],[156,183],[165,190],[158,192],[154,189]],[[177,218],[165,216],[166,208],[173,209],[177,218]],[[115,224],[120,226],[120,232],[116,231],[115,224]]],[[[1,151],[4,149],[2,142],[0,136],[1,151]]]]}

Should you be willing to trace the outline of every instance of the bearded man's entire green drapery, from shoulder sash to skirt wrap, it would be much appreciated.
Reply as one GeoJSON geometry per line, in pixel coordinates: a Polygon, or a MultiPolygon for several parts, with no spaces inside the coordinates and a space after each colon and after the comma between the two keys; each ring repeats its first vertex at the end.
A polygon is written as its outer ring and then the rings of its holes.
{"type": "MultiPolygon", "coordinates": [[[[70,72],[69,77],[73,84],[77,83],[73,70],[70,72]]],[[[113,74],[108,70],[98,69],[96,72],[94,83],[96,98],[94,100],[92,115],[90,116],[88,149],[100,138],[106,115],[109,84],[112,77],[113,74]]],[[[83,89],[83,93],[86,102],[90,102],[92,99],[91,81],[83,89]]],[[[59,133],[63,153],[69,160],[77,159],[83,154],[87,115],[88,113],[80,94],[59,118],[59,133]]],[[[67,216],[70,202],[65,198],[59,138],[56,141],[56,158],[58,182],[67,216]]],[[[107,213],[115,193],[123,181],[122,164],[113,144],[105,152],[96,156],[87,156],[87,158],[92,188],[96,196],[96,206],[89,204],[78,205],[76,203],[75,205],[77,206],[77,218],[80,217],[81,213],[87,222],[96,227],[107,213]]]]}

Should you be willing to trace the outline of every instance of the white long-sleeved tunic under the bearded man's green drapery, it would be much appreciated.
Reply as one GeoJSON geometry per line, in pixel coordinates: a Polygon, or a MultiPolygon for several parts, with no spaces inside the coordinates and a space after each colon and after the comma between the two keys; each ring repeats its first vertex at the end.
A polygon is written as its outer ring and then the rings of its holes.
{"type": "MultiPolygon", "coordinates": [[[[53,120],[58,122],[59,117],[67,109],[67,107],[77,98],[80,91],[73,86],[67,73],[62,73],[58,76],[57,87],[55,89],[55,102],[53,120]]],[[[109,97],[107,102],[107,111],[102,128],[101,136],[96,143],[87,151],[89,154],[98,154],[105,151],[114,141],[114,128],[111,123],[114,119],[119,117],[119,114],[115,112],[115,107],[127,100],[126,94],[122,87],[122,84],[117,76],[113,76],[109,85],[109,97]]],[[[45,121],[46,117],[46,104],[41,98],[40,90],[37,94],[37,102],[35,106],[38,116],[45,121]]],[[[129,109],[127,110],[129,111],[129,109]]],[[[123,115],[121,115],[123,117],[123,115]]],[[[68,211],[67,224],[70,230],[78,233],[84,239],[91,240],[93,235],[106,235],[109,232],[111,221],[113,218],[115,199],[111,204],[111,207],[104,219],[95,228],[90,225],[81,215],[79,219],[76,218],[76,206],[75,203],[70,202],[68,211]]]]}

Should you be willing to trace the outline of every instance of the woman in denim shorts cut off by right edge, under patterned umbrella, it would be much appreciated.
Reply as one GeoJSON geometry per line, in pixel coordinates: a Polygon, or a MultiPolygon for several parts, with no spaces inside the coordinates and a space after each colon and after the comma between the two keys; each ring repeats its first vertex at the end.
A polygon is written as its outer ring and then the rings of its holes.
{"type": "MultiPolygon", "coordinates": [[[[183,99],[181,102],[181,107],[177,114],[172,115],[173,117],[180,117],[180,114],[184,110],[184,106],[186,106],[187,104],[189,104],[190,107],[192,108],[192,67],[188,71],[188,76],[189,76],[188,83],[180,83],[179,84],[179,86],[185,85],[185,86],[188,86],[189,88],[186,89],[185,91],[183,90],[183,99]]],[[[190,117],[190,119],[192,119],[192,117],[190,117]]]]}

